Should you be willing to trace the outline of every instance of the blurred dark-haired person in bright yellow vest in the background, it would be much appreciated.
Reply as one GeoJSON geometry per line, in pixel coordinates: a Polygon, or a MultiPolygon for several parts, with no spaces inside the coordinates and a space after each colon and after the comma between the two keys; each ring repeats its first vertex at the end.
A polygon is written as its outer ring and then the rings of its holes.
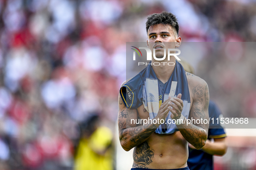
{"type": "Polygon", "coordinates": [[[113,134],[109,128],[98,125],[97,115],[81,123],[74,170],[113,170],[113,134]]]}

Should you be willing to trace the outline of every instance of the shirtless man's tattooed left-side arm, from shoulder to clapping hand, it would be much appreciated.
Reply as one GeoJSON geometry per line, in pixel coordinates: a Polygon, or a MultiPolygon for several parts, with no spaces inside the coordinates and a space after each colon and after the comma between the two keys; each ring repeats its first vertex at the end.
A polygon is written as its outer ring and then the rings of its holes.
{"type": "MultiPolygon", "coordinates": [[[[123,85],[125,82],[123,83],[123,85]]],[[[122,86],[123,86],[122,85],[122,86]]],[[[164,119],[168,110],[168,101],[166,100],[162,103],[159,108],[158,115],[154,119],[164,119]]],[[[119,111],[118,111],[118,130],[119,130],[119,139],[121,146],[125,151],[130,151],[135,146],[138,146],[145,142],[149,136],[156,130],[160,124],[148,123],[144,126],[137,126],[132,124],[131,119],[137,119],[137,110],[128,109],[125,107],[123,100],[119,94],[118,97],[119,111]]]]}

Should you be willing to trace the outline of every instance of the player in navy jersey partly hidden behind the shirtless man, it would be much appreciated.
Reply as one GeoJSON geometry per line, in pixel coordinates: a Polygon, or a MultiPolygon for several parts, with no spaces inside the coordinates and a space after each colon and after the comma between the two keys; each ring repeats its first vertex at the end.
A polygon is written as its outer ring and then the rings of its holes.
{"type": "MultiPolygon", "coordinates": [[[[181,65],[188,74],[194,74],[193,67],[181,60],[181,65]]],[[[209,103],[209,117],[216,120],[222,116],[220,110],[213,101],[209,103]]],[[[190,170],[213,170],[213,155],[223,156],[227,151],[226,133],[220,124],[211,121],[208,130],[208,137],[206,144],[200,150],[194,148],[193,145],[188,144],[188,167],[190,170]],[[212,141],[213,140],[213,141],[212,141]]]]}

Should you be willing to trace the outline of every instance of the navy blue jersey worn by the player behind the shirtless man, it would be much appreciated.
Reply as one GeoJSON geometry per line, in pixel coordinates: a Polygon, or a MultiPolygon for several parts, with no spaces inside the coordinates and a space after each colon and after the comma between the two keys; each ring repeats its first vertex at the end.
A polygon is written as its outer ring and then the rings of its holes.
{"type": "MultiPolygon", "coordinates": [[[[209,117],[214,118],[214,124],[210,121],[208,138],[216,139],[226,137],[226,133],[220,123],[217,124],[216,118],[218,118],[221,113],[216,104],[210,101],[209,103],[209,117]],[[215,128],[215,129],[212,129],[215,128]]],[[[213,170],[213,155],[207,154],[204,151],[188,148],[188,167],[190,170],[213,170]]]]}

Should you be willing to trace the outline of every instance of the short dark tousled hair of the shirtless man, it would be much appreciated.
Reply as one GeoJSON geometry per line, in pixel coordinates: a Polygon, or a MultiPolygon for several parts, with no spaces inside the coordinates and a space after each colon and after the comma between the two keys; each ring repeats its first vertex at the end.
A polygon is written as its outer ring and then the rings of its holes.
{"type": "Polygon", "coordinates": [[[147,33],[149,31],[149,27],[156,25],[156,24],[163,24],[163,25],[171,25],[173,28],[175,28],[177,35],[178,35],[178,20],[176,19],[176,16],[172,13],[168,13],[166,11],[163,11],[162,13],[154,13],[147,18],[146,22],[146,30],[147,33]]]}

